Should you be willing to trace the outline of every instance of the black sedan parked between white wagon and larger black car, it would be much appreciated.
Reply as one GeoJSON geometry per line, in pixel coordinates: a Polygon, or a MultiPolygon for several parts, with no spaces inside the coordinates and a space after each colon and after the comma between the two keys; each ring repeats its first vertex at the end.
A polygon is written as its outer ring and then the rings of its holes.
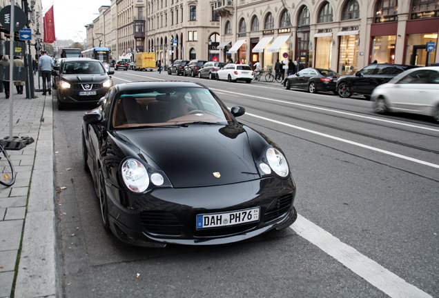
{"type": "Polygon", "coordinates": [[[284,86],[287,90],[291,88],[299,88],[308,90],[310,93],[319,91],[335,92],[335,85],[340,74],[333,70],[323,68],[305,68],[291,74],[284,80],[284,86]]]}

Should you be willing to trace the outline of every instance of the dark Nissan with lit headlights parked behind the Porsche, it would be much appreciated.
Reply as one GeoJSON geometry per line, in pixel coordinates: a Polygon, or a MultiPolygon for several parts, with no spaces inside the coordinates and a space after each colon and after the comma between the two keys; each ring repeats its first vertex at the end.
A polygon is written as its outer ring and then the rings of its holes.
{"type": "Polygon", "coordinates": [[[113,86],[110,74],[101,61],[89,58],[65,58],[55,67],[59,110],[68,103],[97,103],[113,86]]]}

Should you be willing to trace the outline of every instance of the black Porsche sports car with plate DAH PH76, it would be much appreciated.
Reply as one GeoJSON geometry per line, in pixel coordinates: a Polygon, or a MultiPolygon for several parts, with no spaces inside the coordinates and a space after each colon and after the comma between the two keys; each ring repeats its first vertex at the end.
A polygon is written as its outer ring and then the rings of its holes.
{"type": "Polygon", "coordinates": [[[226,244],[289,227],[282,150],[199,83],[122,83],[84,115],[104,228],[138,246],[226,244]]]}

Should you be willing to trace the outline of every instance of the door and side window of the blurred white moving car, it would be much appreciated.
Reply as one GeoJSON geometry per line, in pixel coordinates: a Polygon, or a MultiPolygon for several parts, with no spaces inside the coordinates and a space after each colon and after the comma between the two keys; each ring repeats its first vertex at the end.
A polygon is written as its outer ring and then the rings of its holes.
{"type": "Polygon", "coordinates": [[[439,72],[415,70],[402,77],[392,90],[393,108],[400,112],[430,115],[439,96],[439,72]]]}

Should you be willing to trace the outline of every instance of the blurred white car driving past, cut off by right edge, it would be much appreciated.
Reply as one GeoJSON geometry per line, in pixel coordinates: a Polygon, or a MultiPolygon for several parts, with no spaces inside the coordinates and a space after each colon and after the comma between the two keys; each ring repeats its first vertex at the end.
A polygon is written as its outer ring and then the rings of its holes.
{"type": "Polygon", "coordinates": [[[439,122],[439,66],[411,68],[375,88],[373,110],[380,114],[407,112],[439,122]]]}

